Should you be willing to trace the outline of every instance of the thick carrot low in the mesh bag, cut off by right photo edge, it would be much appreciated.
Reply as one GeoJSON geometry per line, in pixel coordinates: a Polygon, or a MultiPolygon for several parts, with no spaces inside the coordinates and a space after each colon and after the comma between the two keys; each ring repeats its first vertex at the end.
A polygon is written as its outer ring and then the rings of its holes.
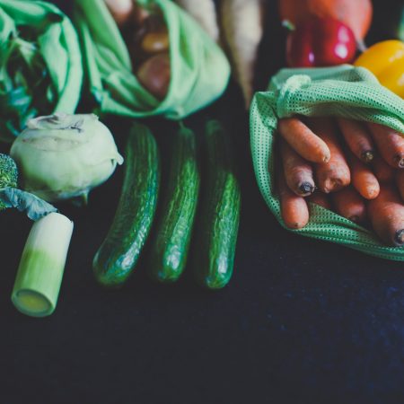
{"type": "Polygon", "coordinates": [[[404,244],[404,206],[390,185],[382,184],[380,194],[367,205],[373,230],[391,246],[404,244]]]}

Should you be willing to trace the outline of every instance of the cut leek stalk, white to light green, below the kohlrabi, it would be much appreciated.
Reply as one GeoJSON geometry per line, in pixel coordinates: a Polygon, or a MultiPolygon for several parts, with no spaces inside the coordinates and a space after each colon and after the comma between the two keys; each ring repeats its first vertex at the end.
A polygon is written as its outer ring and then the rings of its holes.
{"type": "Polygon", "coordinates": [[[72,233],[73,222],[58,213],[46,215],[32,225],[12,294],[20,312],[32,317],[54,312],[72,233]]]}

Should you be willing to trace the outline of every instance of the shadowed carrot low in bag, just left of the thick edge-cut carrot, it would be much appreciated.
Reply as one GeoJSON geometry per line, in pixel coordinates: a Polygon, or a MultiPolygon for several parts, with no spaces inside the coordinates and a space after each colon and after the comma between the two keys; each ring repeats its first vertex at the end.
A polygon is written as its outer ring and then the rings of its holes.
{"type": "Polygon", "coordinates": [[[338,215],[355,223],[366,220],[366,205],[356,189],[349,186],[332,194],[332,201],[338,215]]]}

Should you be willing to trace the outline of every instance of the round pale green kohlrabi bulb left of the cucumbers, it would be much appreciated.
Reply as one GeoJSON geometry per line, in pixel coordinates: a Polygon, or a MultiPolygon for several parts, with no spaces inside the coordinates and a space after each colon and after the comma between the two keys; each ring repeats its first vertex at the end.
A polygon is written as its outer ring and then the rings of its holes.
{"type": "Polygon", "coordinates": [[[22,188],[49,202],[86,198],[123,162],[110,130],[93,114],[31,119],[10,155],[22,188]]]}

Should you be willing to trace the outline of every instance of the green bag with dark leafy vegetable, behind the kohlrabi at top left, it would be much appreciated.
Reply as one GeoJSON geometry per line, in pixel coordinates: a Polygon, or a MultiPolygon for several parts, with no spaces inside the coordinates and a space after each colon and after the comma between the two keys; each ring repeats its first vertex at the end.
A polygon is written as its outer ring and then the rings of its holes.
{"type": "Polygon", "coordinates": [[[25,122],[74,113],[83,66],[75,28],[55,5],[0,0],[0,138],[13,141],[25,122]]]}

